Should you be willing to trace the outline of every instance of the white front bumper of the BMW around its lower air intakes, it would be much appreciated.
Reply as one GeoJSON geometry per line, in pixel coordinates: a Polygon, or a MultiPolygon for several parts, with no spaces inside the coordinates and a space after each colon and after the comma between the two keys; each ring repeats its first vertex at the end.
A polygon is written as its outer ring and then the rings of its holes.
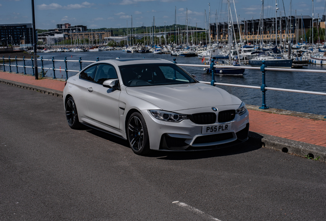
{"type": "MultiPolygon", "coordinates": [[[[201,108],[200,112],[207,112],[208,110],[208,108],[201,108]]],[[[189,119],[181,122],[160,121],[147,110],[142,111],[142,115],[148,128],[150,148],[155,150],[193,151],[216,149],[248,140],[248,111],[241,116],[236,114],[232,121],[206,125],[195,124],[189,119]],[[203,127],[224,124],[231,124],[231,130],[214,134],[202,134],[203,127]]]]}

